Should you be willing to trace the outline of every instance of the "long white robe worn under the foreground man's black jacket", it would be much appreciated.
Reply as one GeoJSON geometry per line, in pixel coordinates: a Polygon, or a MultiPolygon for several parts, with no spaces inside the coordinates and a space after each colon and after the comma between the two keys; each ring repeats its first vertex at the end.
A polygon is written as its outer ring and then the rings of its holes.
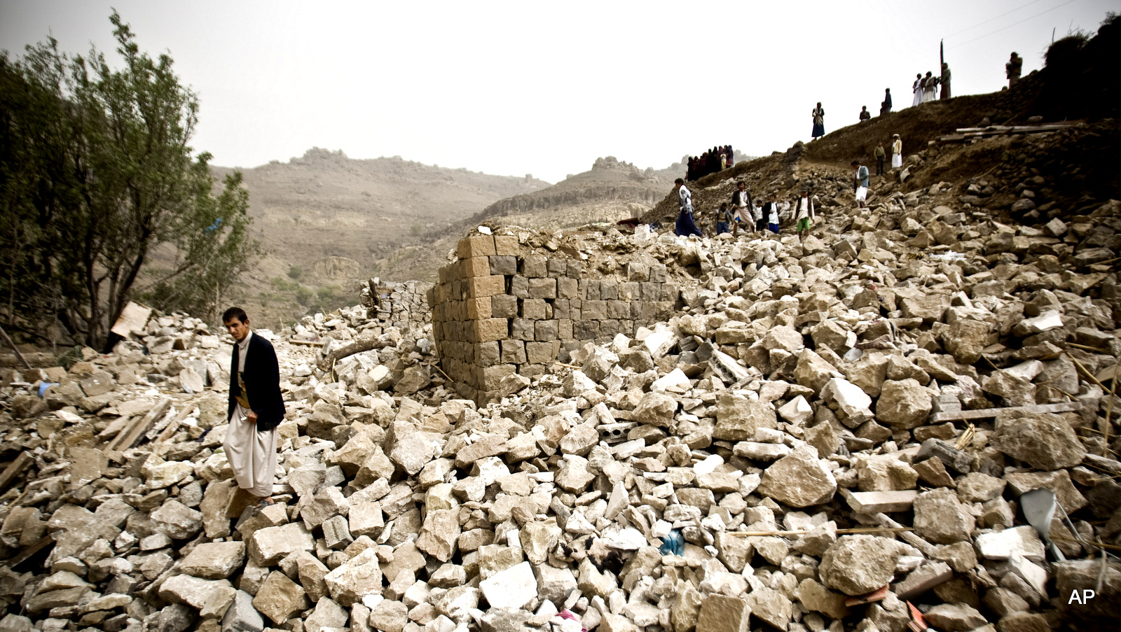
{"type": "MultiPolygon", "coordinates": [[[[238,372],[245,370],[245,354],[249,351],[250,332],[238,343],[238,372]]],[[[237,375],[231,375],[237,380],[237,375]]],[[[248,421],[249,412],[239,403],[230,416],[222,448],[233,470],[238,486],[257,498],[272,495],[272,480],[277,471],[277,429],[259,431],[257,424],[248,421]]]]}

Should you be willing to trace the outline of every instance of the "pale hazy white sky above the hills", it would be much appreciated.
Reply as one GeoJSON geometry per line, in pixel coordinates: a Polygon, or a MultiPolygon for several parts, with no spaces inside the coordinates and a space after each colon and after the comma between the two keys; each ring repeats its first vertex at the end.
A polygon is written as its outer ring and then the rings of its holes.
{"type": "Polygon", "coordinates": [[[910,104],[915,73],[999,90],[1121,0],[939,2],[250,2],[0,0],[0,48],[50,34],[115,59],[115,7],[202,101],[196,150],[253,167],[313,146],[557,182],[600,156],[663,168],[731,143],[749,155],[910,104]]]}

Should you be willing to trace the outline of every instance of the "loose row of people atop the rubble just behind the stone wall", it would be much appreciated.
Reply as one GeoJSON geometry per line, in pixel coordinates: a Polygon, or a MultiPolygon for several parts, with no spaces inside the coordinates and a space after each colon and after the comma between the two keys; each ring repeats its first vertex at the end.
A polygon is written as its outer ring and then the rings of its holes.
{"type": "MultiPolygon", "coordinates": [[[[677,190],[679,205],[674,232],[679,236],[704,236],[693,216],[693,194],[685,186],[685,180],[677,178],[674,182],[674,188],[677,190]]],[[[732,233],[733,238],[738,238],[741,225],[743,231],[749,233],[770,231],[778,234],[782,217],[793,216],[798,239],[804,241],[809,226],[817,217],[809,189],[804,189],[802,196],[793,202],[779,202],[778,196],[773,193],[767,197],[766,203],[762,199],[752,198],[747,185],[742,182],[736,183],[731,202],[722,202],[720,208],[713,214],[714,234],[732,233]]]]}

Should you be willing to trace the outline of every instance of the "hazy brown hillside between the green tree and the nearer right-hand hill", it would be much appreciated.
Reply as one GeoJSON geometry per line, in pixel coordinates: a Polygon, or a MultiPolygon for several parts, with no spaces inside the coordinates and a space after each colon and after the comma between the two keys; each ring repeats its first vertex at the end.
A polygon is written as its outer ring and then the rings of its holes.
{"type": "MultiPolygon", "coordinates": [[[[232,170],[213,168],[217,177],[232,170]]],[[[293,286],[307,284],[305,295],[326,284],[339,285],[339,292],[352,289],[337,273],[317,273],[340,269],[339,261],[326,264],[327,258],[353,260],[355,264],[342,268],[358,270],[356,278],[377,276],[395,264],[402,249],[419,244],[424,232],[549,186],[529,175],[492,176],[399,156],[353,159],[318,147],[287,162],[240,170],[253,236],[263,251],[243,279],[245,304],[289,322],[302,312],[293,286]]]]}

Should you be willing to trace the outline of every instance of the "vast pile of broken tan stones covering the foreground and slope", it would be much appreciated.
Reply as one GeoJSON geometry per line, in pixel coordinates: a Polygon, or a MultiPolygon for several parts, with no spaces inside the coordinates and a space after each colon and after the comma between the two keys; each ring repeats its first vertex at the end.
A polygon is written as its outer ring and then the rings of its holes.
{"type": "Polygon", "coordinates": [[[221,452],[230,341],[202,323],[7,374],[24,470],[0,490],[0,630],[1117,621],[1121,305],[1117,251],[1091,241],[1112,206],[1054,235],[955,210],[948,184],[858,210],[844,174],[815,177],[835,203],[803,243],[511,230],[589,271],[660,263],[680,295],[487,406],[433,366],[430,325],[353,308],[296,327],[328,348],[275,336],[288,415],[263,509],[221,452]],[[318,369],[370,335],[386,346],[318,369]],[[1040,487],[1066,561],[1020,511],[1040,487]]]}

